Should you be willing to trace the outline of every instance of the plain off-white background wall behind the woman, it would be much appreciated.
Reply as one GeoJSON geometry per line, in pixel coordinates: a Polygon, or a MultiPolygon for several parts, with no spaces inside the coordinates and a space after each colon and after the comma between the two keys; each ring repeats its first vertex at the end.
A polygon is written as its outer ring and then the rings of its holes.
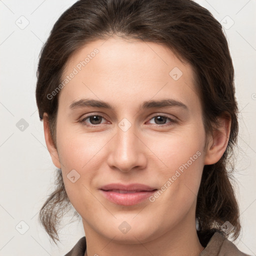
{"type": "MultiPolygon", "coordinates": [[[[0,0],[0,255],[64,255],[84,235],[81,221],[66,224],[57,247],[37,222],[38,210],[52,191],[55,170],[35,103],[38,54],[54,22],[74,2],[0,0]],[[28,124],[23,131],[21,118],[28,124]],[[28,225],[27,231],[20,221],[28,225]]],[[[241,111],[235,178],[242,232],[234,243],[255,255],[256,1],[196,2],[222,20],[230,45],[241,111]]],[[[68,220],[64,218],[63,223],[68,220]]]]}

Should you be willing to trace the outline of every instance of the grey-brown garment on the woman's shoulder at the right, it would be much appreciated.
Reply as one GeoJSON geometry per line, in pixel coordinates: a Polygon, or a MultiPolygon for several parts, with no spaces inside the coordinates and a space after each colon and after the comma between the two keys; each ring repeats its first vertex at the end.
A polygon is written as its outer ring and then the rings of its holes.
{"type": "Polygon", "coordinates": [[[241,252],[225,235],[215,232],[199,256],[250,256],[241,252]]]}

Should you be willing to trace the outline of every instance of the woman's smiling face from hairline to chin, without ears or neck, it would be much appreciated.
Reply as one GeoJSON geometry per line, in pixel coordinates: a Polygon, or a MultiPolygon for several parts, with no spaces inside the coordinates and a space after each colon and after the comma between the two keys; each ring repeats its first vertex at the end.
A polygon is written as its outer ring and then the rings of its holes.
{"type": "Polygon", "coordinates": [[[165,46],[110,37],[77,51],[62,81],[53,162],[85,233],[138,243],[194,228],[206,162],[191,66],[165,46]],[[147,187],[101,189],[112,183],[147,187]]]}

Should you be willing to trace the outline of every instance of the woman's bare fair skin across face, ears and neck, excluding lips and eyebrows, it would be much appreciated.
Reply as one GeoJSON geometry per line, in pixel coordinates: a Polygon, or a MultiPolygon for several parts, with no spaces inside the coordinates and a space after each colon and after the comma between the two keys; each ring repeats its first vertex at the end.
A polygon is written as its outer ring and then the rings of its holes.
{"type": "Polygon", "coordinates": [[[207,149],[202,109],[195,93],[193,70],[173,52],[153,42],[110,37],[86,45],[66,63],[62,78],[97,48],[90,59],[59,92],[54,147],[44,114],[44,134],[54,165],[61,168],[67,195],[82,217],[87,249],[84,255],[199,255],[203,250],[195,227],[196,195],[204,164],[217,162],[227,146],[230,120],[219,117],[221,126],[209,137],[207,149]],[[170,70],[182,71],[174,80],[170,70]],[[81,98],[104,100],[114,110],[99,107],[69,109],[81,98]],[[145,100],[173,98],[180,107],[139,110],[145,100]],[[79,118],[89,114],[105,118],[79,118]],[[168,118],[157,122],[156,117],[168,118]],[[123,131],[118,123],[126,118],[131,126],[123,131]],[[168,125],[170,124],[171,125],[168,125]],[[98,190],[102,185],[142,183],[161,189],[169,177],[191,156],[196,160],[153,202],[123,206],[112,203],[98,190]],[[75,169],[73,183],[67,174],[75,169]],[[130,230],[118,226],[126,221],[130,230]]]}

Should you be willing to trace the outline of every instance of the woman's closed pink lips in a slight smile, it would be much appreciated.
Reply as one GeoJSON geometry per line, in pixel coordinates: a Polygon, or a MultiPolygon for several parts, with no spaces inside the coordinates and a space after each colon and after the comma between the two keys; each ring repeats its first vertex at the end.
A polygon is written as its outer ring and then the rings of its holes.
{"type": "Polygon", "coordinates": [[[100,187],[100,191],[109,201],[119,205],[134,205],[147,199],[157,188],[144,184],[111,183],[100,187]]]}

